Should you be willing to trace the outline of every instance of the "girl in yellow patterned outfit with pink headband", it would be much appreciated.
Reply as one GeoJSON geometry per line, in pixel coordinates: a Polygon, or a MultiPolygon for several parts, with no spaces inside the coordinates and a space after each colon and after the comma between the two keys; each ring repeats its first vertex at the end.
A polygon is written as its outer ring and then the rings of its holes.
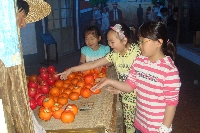
{"type": "MultiPolygon", "coordinates": [[[[130,29],[124,24],[116,24],[111,26],[107,34],[108,44],[113,51],[108,53],[105,57],[88,62],[79,66],[71,67],[68,70],[58,74],[61,79],[66,79],[67,75],[76,71],[85,71],[93,68],[97,68],[105,65],[114,65],[119,81],[125,81],[130,67],[137,56],[140,55],[140,49],[136,43],[132,42],[130,29]]],[[[123,115],[124,123],[126,126],[127,133],[134,133],[135,128],[133,126],[134,117],[135,117],[135,100],[136,93],[126,93],[118,91],[114,88],[108,88],[113,94],[121,95],[122,106],[123,106],[123,115]]]]}

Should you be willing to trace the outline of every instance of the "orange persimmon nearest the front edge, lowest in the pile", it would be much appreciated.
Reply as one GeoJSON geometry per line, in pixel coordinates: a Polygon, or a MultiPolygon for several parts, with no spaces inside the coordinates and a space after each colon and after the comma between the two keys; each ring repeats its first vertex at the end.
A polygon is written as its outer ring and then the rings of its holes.
{"type": "Polygon", "coordinates": [[[61,121],[63,123],[70,123],[73,122],[75,119],[75,115],[71,110],[65,110],[61,114],[61,121]]]}

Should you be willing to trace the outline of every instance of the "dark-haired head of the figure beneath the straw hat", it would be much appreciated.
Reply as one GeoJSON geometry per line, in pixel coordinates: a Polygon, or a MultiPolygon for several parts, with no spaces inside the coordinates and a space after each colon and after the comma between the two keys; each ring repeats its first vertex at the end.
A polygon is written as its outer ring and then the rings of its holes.
{"type": "Polygon", "coordinates": [[[29,5],[26,1],[23,0],[17,0],[17,24],[20,29],[26,26],[25,18],[28,15],[29,12],[29,5]]]}

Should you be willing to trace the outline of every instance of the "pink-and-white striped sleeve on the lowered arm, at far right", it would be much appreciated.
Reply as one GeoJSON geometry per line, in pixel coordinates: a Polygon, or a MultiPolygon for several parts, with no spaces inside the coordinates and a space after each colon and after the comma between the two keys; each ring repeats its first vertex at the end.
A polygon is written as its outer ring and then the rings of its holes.
{"type": "Polygon", "coordinates": [[[176,67],[166,73],[164,80],[164,95],[167,105],[176,106],[179,100],[180,77],[176,67]]]}

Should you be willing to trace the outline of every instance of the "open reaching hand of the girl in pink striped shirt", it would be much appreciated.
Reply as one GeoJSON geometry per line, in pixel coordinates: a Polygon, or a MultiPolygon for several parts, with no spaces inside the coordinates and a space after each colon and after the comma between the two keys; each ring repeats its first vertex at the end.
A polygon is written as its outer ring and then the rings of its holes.
{"type": "Polygon", "coordinates": [[[103,88],[104,86],[109,84],[109,79],[108,78],[97,78],[95,79],[96,82],[98,82],[95,86],[90,88],[91,91],[96,91],[99,88],[103,88]]]}

